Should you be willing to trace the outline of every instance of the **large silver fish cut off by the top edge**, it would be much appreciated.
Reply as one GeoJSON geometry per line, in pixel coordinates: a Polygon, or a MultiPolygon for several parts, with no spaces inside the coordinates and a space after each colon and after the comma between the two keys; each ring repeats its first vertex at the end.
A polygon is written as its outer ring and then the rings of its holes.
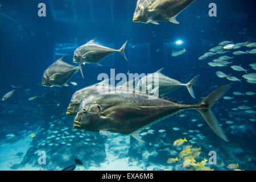
{"type": "Polygon", "coordinates": [[[154,23],[170,21],[178,24],[176,16],[194,0],[138,0],[133,22],[154,23]]]}

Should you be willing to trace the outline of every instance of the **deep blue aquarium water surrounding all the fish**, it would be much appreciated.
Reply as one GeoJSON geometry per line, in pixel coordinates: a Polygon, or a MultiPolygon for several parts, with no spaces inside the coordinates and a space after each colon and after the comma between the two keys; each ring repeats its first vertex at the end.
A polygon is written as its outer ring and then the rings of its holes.
{"type": "MultiPolygon", "coordinates": [[[[210,67],[208,62],[217,59],[218,55],[198,59],[224,40],[233,43],[249,40],[254,43],[255,2],[197,0],[177,16],[180,24],[159,22],[159,25],[134,23],[136,2],[0,1],[0,95],[2,97],[13,90],[10,85],[18,88],[13,97],[0,103],[0,170],[60,170],[72,165],[75,158],[82,161],[82,169],[86,170],[112,170],[116,169],[113,165],[121,162],[127,164],[124,169],[188,170],[181,168],[182,160],[167,163],[168,158],[176,158],[183,150],[183,146],[172,146],[174,140],[184,137],[188,140],[184,146],[202,148],[196,162],[209,159],[209,151],[216,151],[217,163],[224,163],[207,164],[207,167],[230,170],[226,167],[228,164],[238,163],[240,169],[256,169],[255,113],[232,110],[238,106],[249,106],[250,110],[255,111],[255,95],[233,94],[236,91],[256,92],[255,85],[242,77],[245,72],[234,71],[230,65],[210,67]],[[46,17],[38,16],[40,2],[46,4],[46,17]],[[217,5],[217,17],[208,15],[211,2],[217,5]],[[85,78],[79,72],[71,78],[71,81],[77,82],[77,86],[70,82],[68,87],[42,86],[43,72],[49,65],[61,55],[65,55],[64,61],[75,65],[72,62],[75,49],[94,38],[97,38],[97,43],[115,49],[129,40],[125,49],[129,61],[119,53],[113,53],[100,62],[102,66],[82,66],[85,78]],[[175,44],[177,40],[182,40],[183,44],[175,44]],[[172,49],[183,48],[187,50],[183,55],[171,56],[172,49]],[[213,113],[230,140],[228,143],[217,137],[194,110],[185,110],[152,125],[150,129],[155,130],[154,134],[143,136],[144,144],[121,134],[108,138],[100,133],[72,129],[73,118],[65,115],[72,94],[85,86],[96,84],[100,73],[110,76],[110,69],[115,69],[116,75],[126,74],[128,70],[130,73],[147,74],[160,68],[164,68],[164,75],[184,83],[200,75],[193,86],[196,99],[189,96],[185,87],[166,95],[184,103],[195,104],[218,86],[234,83],[225,95],[234,98],[221,99],[213,107],[213,113]],[[219,78],[216,71],[232,74],[241,82],[219,78]],[[28,100],[34,96],[34,100],[28,100]],[[180,117],[180,114],[185,116],[180,117]],[[197,121],[192,122],[195,118],[197,121]],[[234,123],[228,124],[226,121],[234,123]],[[203,126],[197,126],[200,123],[203,126]],[[173,127],[180,130],[175,131],[173,127]],[[166,131],[160,133],[159,130],[166,131]],[[35,133],[36,137],[27,135],[31,133],[35,133]],[[46,164],[38,163],[38,151],[46,152],[46,164]]],[[[242,47],[236,51],[247,49],[253,48],[242,47]]],[[[232,52],[224,55],[233,56],[232,52]]],[[[249,69],[248,73],[255,72],[249,66],[255,63],[254,54],[238,55],[232,61],[232,65],[249,69]]]]}

